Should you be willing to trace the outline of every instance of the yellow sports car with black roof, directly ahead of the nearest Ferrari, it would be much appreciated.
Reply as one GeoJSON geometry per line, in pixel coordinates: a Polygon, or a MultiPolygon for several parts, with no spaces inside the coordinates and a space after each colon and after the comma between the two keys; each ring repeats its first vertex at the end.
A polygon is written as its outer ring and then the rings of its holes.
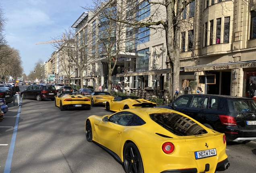
{"type": "Polygon", "coordinates": [[[118,96],[110,101],[107,101],[105,105],[106,111],[121,111],[123,109],[138,108],[138,107],[155,107],[156,103],[141,99],[136,96],[118,96]]]}

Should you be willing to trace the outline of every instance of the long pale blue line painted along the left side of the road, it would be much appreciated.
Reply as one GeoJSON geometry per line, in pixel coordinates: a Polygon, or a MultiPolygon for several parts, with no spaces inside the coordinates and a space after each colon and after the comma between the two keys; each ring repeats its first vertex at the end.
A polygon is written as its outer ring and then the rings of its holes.
{"type": "MultiPolygon", "coordinates": [[[[22,103],[22,98],[21,98],[21,103],[22,103]]],[[[20,118],[20,112],[21,112],[21,107],[19,107],[19,109],[18,109],[14,129],[13,129],[13,133],[12,133],[12,140],[11,140],[11,143],[10,143],[10,148],[9,148],[6,163],[5,163],[5,166],[4,166],[4,173],[10,173],[10,168],[11,168],[11,164],[12,164],[12,156],[13,156],[13,152],[14,152],[14,146],[15,146],[18,124],[19,124],[19,118],[20,118]]]]}

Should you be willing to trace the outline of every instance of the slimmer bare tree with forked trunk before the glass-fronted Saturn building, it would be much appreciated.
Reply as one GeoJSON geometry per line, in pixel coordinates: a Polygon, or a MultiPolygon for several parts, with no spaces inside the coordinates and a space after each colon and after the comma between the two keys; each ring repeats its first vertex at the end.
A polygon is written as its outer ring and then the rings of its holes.
{"type": "Polygon", "coordinates": [[[124,13],[127,10],[126,6],[118,6],[116,1],[103,2],[95,0],[93,2],[93,8],[83,8],[90,11],[93,14],[93,18],[98,22],[98,31],[95,29],[95,37],[99,45],[98,56],[107,60],[108,92],[110,92],[111,76],[118,62],[118,56],[119,54],[128,56],[129,52],[132,51],[129,48],[134,48],[135,42],[134,37],[126,37],[128,25],[124,22],[119,22],[126,19],[126,13],[124,13]],[[111,18],[116,20],[110,20],[111,18]],[[114,62],[113,65],[112,62],[114,62]]]}

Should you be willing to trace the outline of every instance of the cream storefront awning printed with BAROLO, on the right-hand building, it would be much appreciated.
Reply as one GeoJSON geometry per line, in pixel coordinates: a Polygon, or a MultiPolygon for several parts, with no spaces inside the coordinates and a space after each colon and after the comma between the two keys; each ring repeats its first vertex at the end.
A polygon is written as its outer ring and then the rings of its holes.
{"type": "Polygon", "coordinates": [[[206,70],[227,70],[235,68],[252,68],[256,67],[256,60],[252,61],[234,61],[225,62],[218,64],[205,64],[198,66],[188,66],[184,67],[185,72],[196,72],[196,71],[206,71],[206,70]]]}

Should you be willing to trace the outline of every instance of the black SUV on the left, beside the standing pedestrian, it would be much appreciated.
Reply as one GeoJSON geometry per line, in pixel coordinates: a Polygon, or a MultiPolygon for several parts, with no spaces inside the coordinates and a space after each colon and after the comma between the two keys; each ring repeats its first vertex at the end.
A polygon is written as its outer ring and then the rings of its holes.
{"type": "Polygon", "coordinates": [[[46,84],[33,84],[21,92],[22,99],[37,99],[37,101],[41,101],[42,99],[51,99],[54,101],[54,96],[56,95],[57,90],[55,87],[46,84]]]}

